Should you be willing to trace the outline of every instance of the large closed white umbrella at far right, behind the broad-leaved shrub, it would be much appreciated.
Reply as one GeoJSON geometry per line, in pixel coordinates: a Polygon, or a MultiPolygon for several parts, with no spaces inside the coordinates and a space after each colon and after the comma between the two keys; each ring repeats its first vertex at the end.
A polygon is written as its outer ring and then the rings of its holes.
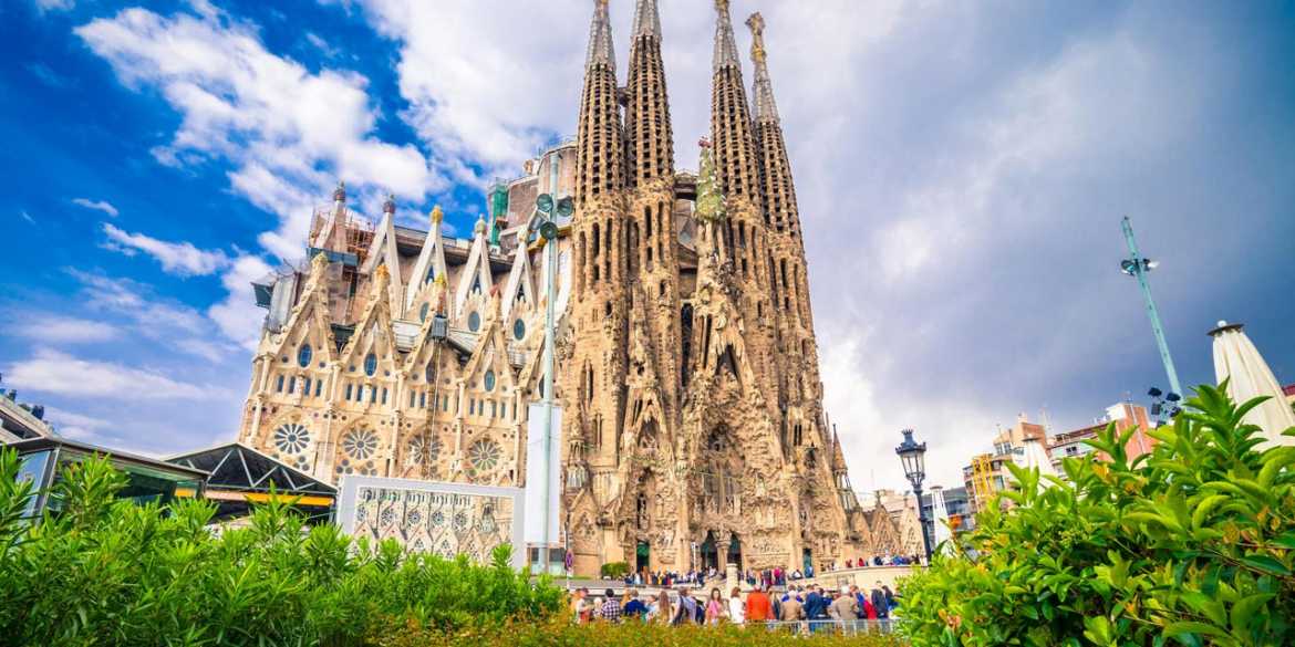
{"type": "Polygon", "coordinates": [[[1295,427],[1295,413],[1286,404],[1282,387],[1268,362],[1242,327],[1242,324],[1220,321],[1219,327],[1210,331],[1210,336],[1215,338],[1215,378],[1220,384],[1229,380],[1228,395],[1237,404],[1268,396],[1264,404],[1246,414],[1244,422],[1259,426],[1272,443],[1295,445],[1295,437],[1282,436],[1283,431],[1295,427]]]}

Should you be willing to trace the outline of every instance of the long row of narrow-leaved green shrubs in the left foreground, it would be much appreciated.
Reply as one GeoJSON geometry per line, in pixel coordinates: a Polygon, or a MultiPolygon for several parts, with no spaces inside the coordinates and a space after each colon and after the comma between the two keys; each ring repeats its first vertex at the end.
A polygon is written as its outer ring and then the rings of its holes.
{"type": "Polygon", "coordinates": [[[115,499],[124,477],[105,459],[69,467],[52,493],[63,512],[28,524],[17,471],[0,452],[0,644],[372,644],[408,625],[455,631],[563,608],[506,547],[482,567],[354,543],[282,503],[215,537],[208,502],[115,499]]]}

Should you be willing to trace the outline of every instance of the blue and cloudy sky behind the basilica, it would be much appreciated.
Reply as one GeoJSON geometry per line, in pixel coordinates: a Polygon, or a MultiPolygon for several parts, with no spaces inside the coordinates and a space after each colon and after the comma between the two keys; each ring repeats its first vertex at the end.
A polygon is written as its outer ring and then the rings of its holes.
{"type": "MultiPolygon", "coordinates": [[[[677,159],[708,118],[708,3],[662,0],[677,159]]],[[[763,3],[828,410],[861,488],[897,430],[936,481],[998,423],[1163,387],[1128,214],[1186,383],[1213,321],[1295,382],[1289,3],[763,3]]],[[[613,1],[622,67],[632,3],[613,1]]],[[[467,230],[575,127],[591,3],[14,0],[0,62],[0,370],[63,432],[233,437],[260,311],[341,177],[467,230]]],[[[739,47],[747,47],[738,25],[739,47]]],[[[746,70],[750,80],[750,66],[746,70]]]]}

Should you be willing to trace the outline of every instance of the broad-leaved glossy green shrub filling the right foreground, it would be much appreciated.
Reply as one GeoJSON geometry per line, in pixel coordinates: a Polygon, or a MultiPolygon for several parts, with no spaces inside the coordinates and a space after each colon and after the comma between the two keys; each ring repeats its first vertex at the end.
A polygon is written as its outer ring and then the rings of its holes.
{"type": "Polygon", "coordinates": [[[1295,643],[1295,448],[1256,448],[1242,415],[1260,401],[1203,386],[1151,454],[1131,462],[1112,426],[1090,443],[1110,461],[1066,459],[1070,484],[1011,467],[1015,506],[901,582],[903,629],[918,646],[1295,643]]]}

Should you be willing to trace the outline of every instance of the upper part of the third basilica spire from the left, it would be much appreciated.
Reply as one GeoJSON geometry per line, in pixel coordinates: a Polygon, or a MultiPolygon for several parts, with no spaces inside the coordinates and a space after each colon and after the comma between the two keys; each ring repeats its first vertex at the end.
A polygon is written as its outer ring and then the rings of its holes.
{"type": "Polygon", "coordinates": [[[711,82],[711,141],[720,188],[729,199],[746,199],[758,206],[759,177],[755,164],[755,138],[751,110],[742,87],[742,65],[733,40],[729,0],[715,0],[715,66],[711,82]]]}

